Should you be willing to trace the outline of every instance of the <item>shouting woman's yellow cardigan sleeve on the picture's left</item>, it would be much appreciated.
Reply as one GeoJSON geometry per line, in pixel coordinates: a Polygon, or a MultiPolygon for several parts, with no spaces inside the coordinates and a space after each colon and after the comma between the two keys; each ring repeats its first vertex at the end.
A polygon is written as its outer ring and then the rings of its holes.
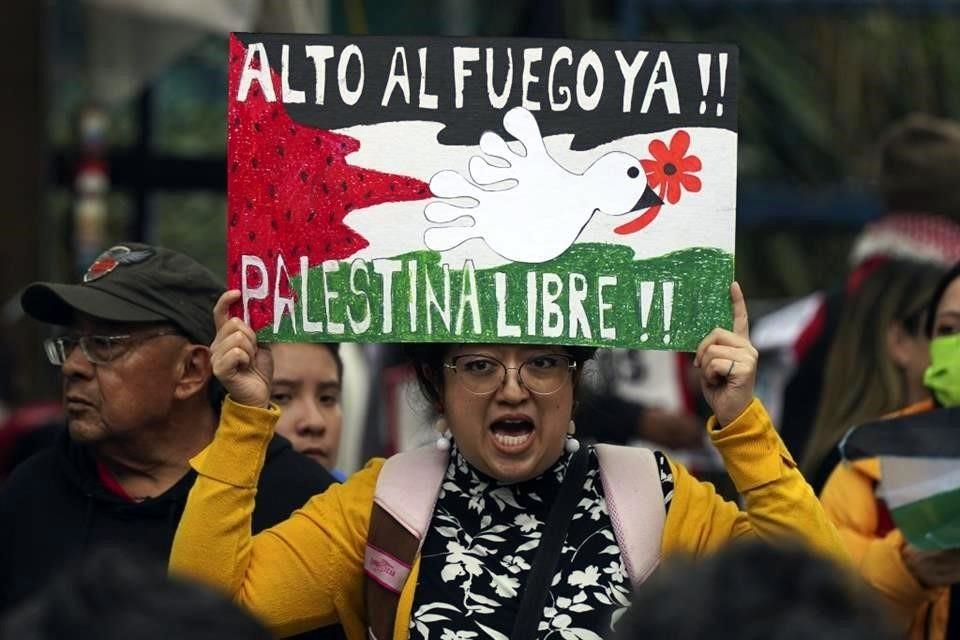
{"type": "Polygon", "coordinates": [[[227,592],[279,636],[340,622],[363,637],[363,543],[382,460],[251,535],[257,478],[278,412],[224,403],[177,529],[171,572],[227,592]]]}

